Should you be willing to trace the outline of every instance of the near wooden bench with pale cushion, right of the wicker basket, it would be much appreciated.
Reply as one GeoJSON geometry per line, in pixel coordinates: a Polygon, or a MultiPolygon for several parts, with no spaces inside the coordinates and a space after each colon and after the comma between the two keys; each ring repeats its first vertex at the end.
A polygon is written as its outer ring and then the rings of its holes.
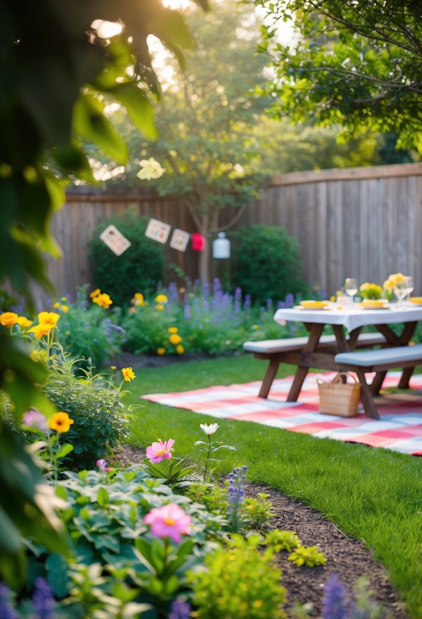
{"type": "Polygon", "coordinates": [[[398,386],[406,389],[415,366],[422,365],[422,344],[341,352],[335,355],[334,361],[341,371],[356,373],[362,385],[361,400],[365,415],[372,419],[379,419],[373,396],[381,389],[385,374],[394,368],[405,368],[398,386]],[[370,385],[366,382],[365,376],[369,372],[377,373],[370,385]]]}

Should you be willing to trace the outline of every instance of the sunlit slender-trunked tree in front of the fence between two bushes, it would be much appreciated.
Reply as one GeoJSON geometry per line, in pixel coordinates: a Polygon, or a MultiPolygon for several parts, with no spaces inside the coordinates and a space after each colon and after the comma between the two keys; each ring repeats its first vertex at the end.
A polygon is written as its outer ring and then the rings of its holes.
{"type": "Polygon", "coordinates": [[[205,281],[210,240],[223,227],[222,210],[233,207],[239,214],[266,183],[255,165],[263,150],[255,126],[269,100],[251,93],[265,80],[266,62],[256,54],[260,22],[253,5],[218,2],[205,19],[195,8],[187,19],[197,47],[187,51],[182,73],[174,66],[177,79],[166,85],[157,105],[158,140],[145,141],[124,119],[119,125],[131,150],[122,179],[126,188],[139,186],[136,173],[144,158],[155,157],[166,168],[160,179],[144,182],[161,195],[178,196],[207,238],[199,254],[205,281]]]}

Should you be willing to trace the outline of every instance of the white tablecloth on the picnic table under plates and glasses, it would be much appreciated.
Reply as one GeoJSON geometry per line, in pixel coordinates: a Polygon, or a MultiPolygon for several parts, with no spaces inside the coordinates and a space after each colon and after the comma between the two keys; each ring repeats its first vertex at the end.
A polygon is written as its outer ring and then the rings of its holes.
{"type": "Polygon", "coordinates": [[[319,322],[323,324],[342,324],[348,331],[368,324],[392,324],[394,322],[411,322],[422,320],[422,306],[395,309],[363,309],[351,306],[337,309],[335,305],[324,309],[277,309],[274,320],[280,324],[286,321],[319,322]]]}

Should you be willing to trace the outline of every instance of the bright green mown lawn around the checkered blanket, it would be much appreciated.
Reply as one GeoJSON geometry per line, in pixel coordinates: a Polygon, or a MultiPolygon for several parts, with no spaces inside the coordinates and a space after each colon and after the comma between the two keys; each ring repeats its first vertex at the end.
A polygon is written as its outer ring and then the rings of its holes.
{"type": "MultiPolygon", "coordinates": [[[[288,376],[294,368],[279,370],[288,376]]],[[[131,383],[127,404],[142,394],[187,391],[216,384],[261,380],[265,363],[248,355],[145,368],[131,383]]],[[[198,415],[141,400],[131,442],[146,447],[157,437],[174,438],[175,455],[199,459],[194,441],[203,439],[198,415]]],[[[371,548],[412,619],[422,618],[422,461],[387,449],[219,419],[216,439],[236,452],[219,451],[218,472],[248,466],[248,479],[299,498],[319,509],[348,535],[371,548]]],[[[323,548],[321,550],[324,550],[323,548]]]]}

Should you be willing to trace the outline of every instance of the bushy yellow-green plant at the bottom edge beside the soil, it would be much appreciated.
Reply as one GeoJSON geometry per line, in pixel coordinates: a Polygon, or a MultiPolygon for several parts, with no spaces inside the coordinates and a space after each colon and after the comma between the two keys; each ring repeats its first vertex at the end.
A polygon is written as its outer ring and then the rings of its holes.
{"type": "Polygon", "coordinates": [[[233,534],[228,547],[205,556],[204,569],[187,573],[196,616],[206,619],[269,619],[285,617],[280,606],[285,589],[273,550],[259,553],[261,535],[233,534]]]}

